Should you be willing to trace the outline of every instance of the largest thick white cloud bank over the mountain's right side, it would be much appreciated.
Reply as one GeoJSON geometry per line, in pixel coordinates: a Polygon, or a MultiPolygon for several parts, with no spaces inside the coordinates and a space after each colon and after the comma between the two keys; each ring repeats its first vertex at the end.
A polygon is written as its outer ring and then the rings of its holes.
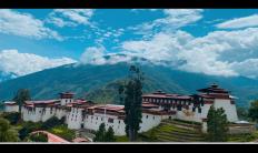
{"type": "Polygon", "coordinates": [[[126,41],[127,54],[155,63],[211,75],[258,78],[258,29],[214,31],[195,38],[187,32],[157,33],[149,40],[126,41]],[[222,37],[221,37],[222,35],[222,37]],[[246,68],[250,69],[247,70],[246,68]]]}

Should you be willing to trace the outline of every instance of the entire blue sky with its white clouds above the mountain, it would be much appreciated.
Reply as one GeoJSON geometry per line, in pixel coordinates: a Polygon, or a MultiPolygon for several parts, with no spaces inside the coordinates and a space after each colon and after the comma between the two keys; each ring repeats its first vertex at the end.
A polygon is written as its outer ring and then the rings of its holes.
{"type": "Polygon", "coordinates": [[[257,78],[257,9],[2,9],[0,72],[116,63],[130,59],[116,55],[123,53],[183,71],[257,78]]]}

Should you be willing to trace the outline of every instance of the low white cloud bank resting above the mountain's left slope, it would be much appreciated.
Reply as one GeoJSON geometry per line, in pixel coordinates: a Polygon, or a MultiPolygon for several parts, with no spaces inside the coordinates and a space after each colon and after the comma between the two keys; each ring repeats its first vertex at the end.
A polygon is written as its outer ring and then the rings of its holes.
{"type": "Polygon", "coordinates": [[[16,76],[76,62],[70,58],[49,59],[32,53],[19,53],[18,50],[0,51],[0,71],[16,76]]]}

